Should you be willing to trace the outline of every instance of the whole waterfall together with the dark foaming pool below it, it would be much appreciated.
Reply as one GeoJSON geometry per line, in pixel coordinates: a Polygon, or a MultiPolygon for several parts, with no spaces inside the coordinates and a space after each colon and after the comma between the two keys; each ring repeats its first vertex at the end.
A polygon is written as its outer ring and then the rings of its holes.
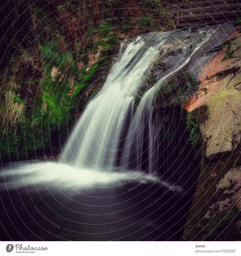
{"type": "Polygon", "coordinates": [[[124,40],[61,159],[44,153],[44,160],[2,163],[0,239],[181,240],[200,162],[187,143],[183,100],[172,107],[171,100],[180,87],[190,90],[186,99],[198,90],[177,78],[198,78],[231,31],[232,24],[204,25],[124,40]],[[167,85],[176,88],[165,97],[167,85]]]}

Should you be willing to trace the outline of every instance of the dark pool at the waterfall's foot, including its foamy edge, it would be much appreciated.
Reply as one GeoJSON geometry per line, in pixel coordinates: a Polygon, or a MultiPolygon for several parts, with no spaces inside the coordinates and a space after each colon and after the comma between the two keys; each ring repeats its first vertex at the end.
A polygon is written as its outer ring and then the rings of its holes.
{"type": "Polygon", "coordinates": [[[3,166],[2,241],[181,239],[190,208],[185,190],[138,172],[120,172],[117,178],[105,172],[105,178],[91,179],[86,171],[79,175],[78,170],[54,166],[3,166]],[[114,178],[108,180],[108,175],[114,178]]]}

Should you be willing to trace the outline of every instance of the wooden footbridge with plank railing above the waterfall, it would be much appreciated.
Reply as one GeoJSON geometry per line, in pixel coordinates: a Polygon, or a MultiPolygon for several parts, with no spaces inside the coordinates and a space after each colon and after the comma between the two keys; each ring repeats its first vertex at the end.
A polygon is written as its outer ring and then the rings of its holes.
{"type": "Polygon", "coordinates": [[[177,27],[196,24],[220,24],[236,21],[241,16],[241,1],[209,0],[174,5],[177,27]]]}

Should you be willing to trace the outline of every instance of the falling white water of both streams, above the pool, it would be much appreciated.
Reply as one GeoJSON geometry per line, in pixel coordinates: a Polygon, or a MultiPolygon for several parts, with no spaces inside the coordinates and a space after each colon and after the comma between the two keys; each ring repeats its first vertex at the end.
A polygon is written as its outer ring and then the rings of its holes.
{"type": "MultiPolygon", "coordinates": [[[[160,124],[161,127],[167,125],[169,117],[160,114],[152,119],[157,91],[169,78],[187,69],[189,63],[197,60],[203,52],[218,46],[217,34],[223,40],[223,30],[228,33],[231,29],[228,24],[222,28],[212,26],[212,29],[209,26],[190,27],[146,33],[137,36],[129,45],[124,40],[118,61],[111,68],[102,90],[88,104],[70,134],[61,162],[80,168],[142,169],[150,173],[159,170],[163,153],[159,145],[163,138],[156,134],[160,124]],[[139,90],[153,63],[168,57],[171,51],[175,54],[167,58],[168,65],[161,78],[151,88],[146,88],[135,106],[135,99],[140,97],[139,90]]],[[[195,70],[189,66],[192,73],[197,73],[200,68],[201,65],[195,70]]]]}

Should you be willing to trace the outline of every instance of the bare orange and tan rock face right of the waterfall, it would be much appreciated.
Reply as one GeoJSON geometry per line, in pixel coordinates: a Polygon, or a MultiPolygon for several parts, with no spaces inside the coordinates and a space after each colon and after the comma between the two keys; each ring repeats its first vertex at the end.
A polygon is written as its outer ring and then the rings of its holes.
{"type": "MultiPolygon", "coordinates": [[[[199,72],[202,82],[199,91],[185,104],[184,108],[193,111],[202,105],[208,106],[209,118],[200,127],[202,136],[207,138],[206,156],[209,160],[231,153],[240,142],[239,120],[241,117],[241,91],[239,89],[241,72],[240,33],[235,32],[227,37],[232,43],[217,52],[199,72]],[[236,39],[234,39],[236,37],[236,39]],[[227,51],[232,58],[224,60],[227,51]]],[[[225,41],[227,41],[225,40],[225,41]]]]}

